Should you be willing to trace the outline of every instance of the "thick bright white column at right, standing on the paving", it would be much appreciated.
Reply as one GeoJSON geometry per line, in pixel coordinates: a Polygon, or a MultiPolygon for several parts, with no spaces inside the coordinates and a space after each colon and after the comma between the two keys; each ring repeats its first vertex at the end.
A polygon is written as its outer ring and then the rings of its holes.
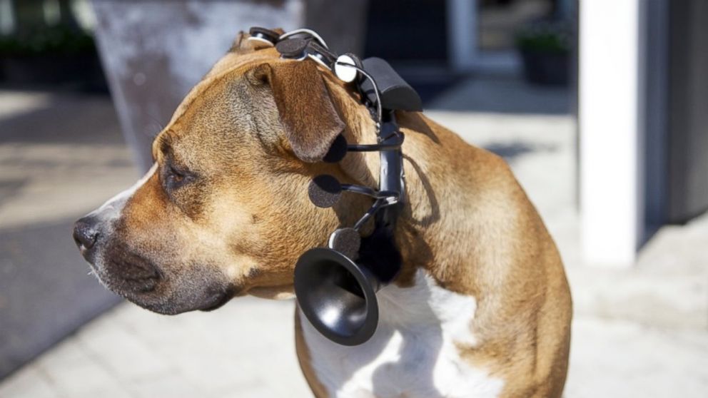
{"type": "Polygon", "coordinates": [[[632,265],[642,236],[641,1],[580,1],[581,239],[590,264],[632,265]]]}

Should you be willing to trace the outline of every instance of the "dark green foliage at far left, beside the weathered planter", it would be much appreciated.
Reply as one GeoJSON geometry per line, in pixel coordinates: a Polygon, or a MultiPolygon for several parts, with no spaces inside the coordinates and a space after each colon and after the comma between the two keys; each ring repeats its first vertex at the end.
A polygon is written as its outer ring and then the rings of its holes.
{"type": "Polygon", "coordinates": [[[95,52],[89,34],[61,25],[0,36],[0,56],[72,56],[95,52]]]}

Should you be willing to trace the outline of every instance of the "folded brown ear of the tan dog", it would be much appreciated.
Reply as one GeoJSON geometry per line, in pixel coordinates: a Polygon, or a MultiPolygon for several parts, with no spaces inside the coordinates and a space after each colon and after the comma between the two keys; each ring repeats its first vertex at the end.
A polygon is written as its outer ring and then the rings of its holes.
{"type": "Polygon", "coordinates": [[[295,156],[305,162],[322,160],[345,124],[315,63],[263,63],[254,68],[253,78],[270,85],[295,156]]]}

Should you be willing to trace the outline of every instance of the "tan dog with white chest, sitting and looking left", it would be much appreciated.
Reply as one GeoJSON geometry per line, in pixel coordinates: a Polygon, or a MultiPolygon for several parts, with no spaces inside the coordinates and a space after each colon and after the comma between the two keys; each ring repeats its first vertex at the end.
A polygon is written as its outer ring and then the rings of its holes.
{"type": "MultiPolygon", "coordinates": [[[[248,34],[178,106],[132,188],[78,220],[74,239],[109,290],[154,312],[233,297],[293,297],[300,253],[353,225],[370,199],[308,200],[315,175],[375,186],[375,153],[323,163],[338,134],[375,142],[358,93],[315,62],[248,34]]],[[[378,292],[362,345],[337,345],[295,310],[300,367],[316,397],[560,397],[572,301],[540,216],[499,156],[422,113],[396,113],[407,200],[403,266],[378,292]]],[[[364,233],[370,233],[371,226],[364,233]]]]}

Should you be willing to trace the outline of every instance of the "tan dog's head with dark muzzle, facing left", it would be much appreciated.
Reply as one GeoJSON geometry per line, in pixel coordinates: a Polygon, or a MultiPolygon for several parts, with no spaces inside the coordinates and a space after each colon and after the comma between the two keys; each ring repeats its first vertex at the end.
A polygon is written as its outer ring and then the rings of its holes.
{"type": "Polygon", "coordinates": [[[313,61],[253,51],[241,36],[156,137],[151,170],[76,222],[81,254],[108,289],[165,314],[290,295],[298,256],[368,207],[308,200],[313,176],[350,179],[320,161],[347,106],[353,97],[313,61]]]}

